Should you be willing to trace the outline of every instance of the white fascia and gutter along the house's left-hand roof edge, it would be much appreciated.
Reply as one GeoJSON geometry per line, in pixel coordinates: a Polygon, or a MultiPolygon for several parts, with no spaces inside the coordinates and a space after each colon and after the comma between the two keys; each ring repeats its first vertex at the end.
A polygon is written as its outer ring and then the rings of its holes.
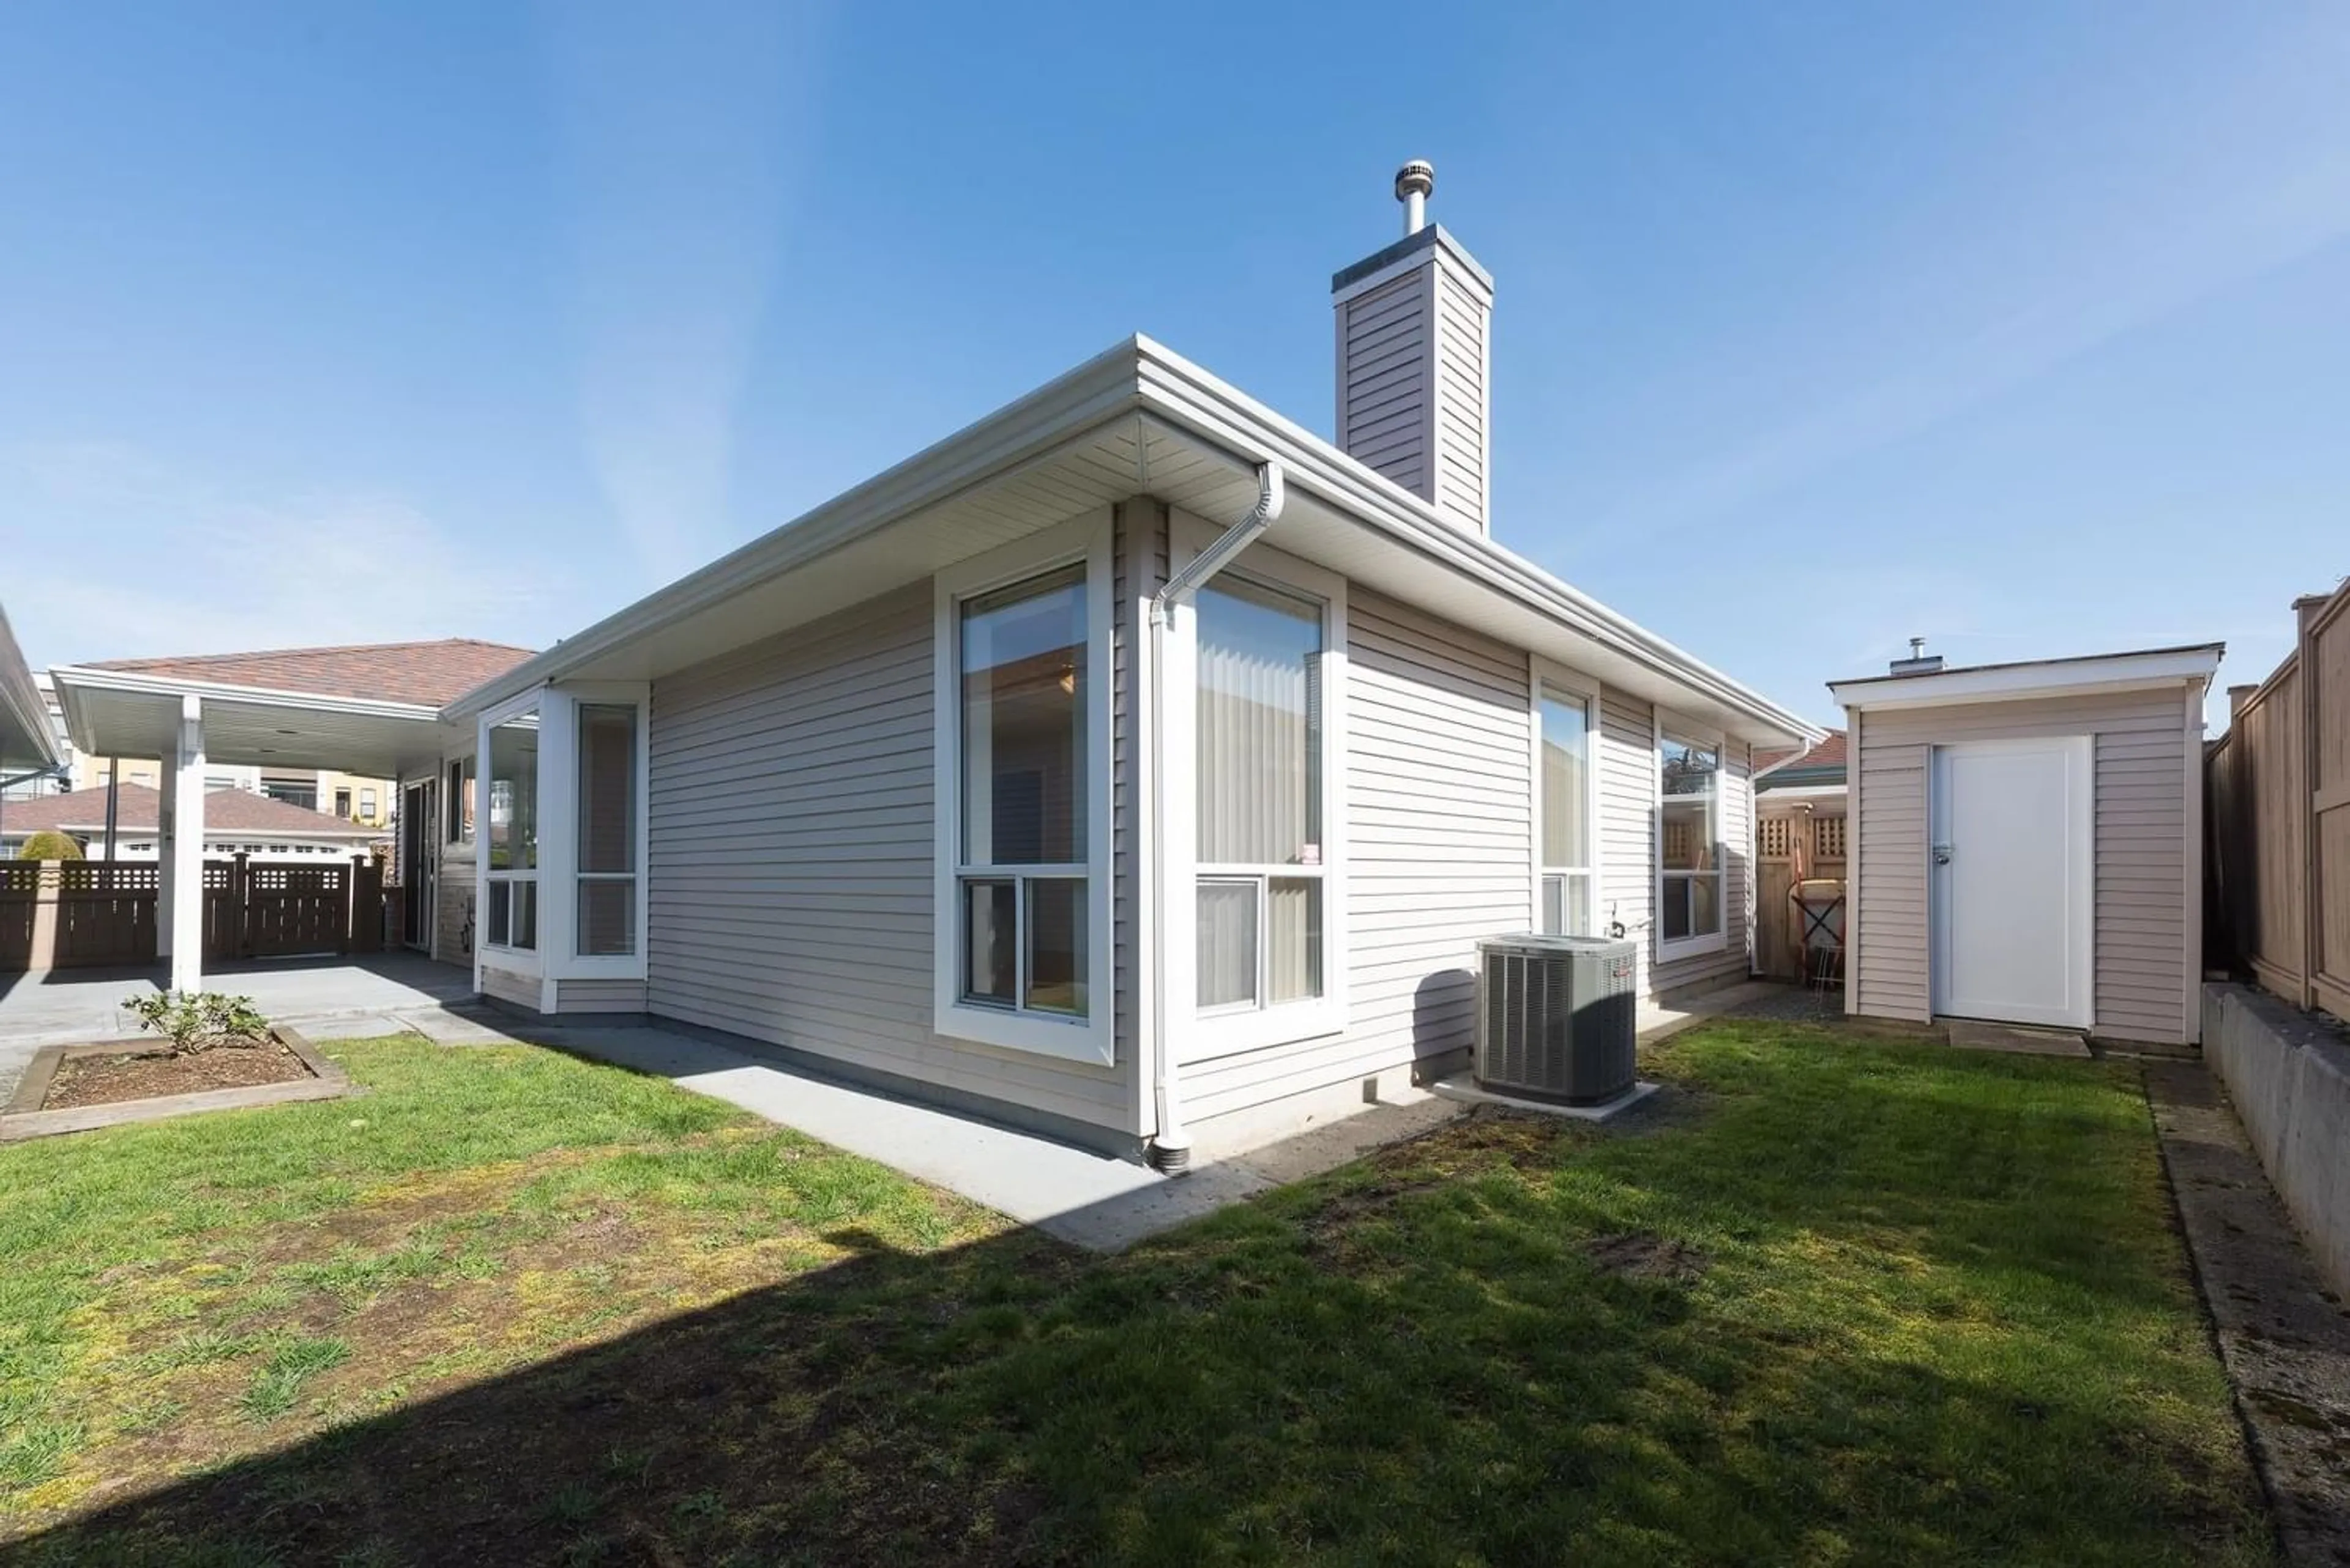
{"type": "Polygon", "coordinates": [[[862,534],[985,484],[1003,470],[1130,411],[1140,343],[1142,339],[1116,343],[895,468],[841,491],[815,510],[801,512],[627,609],[604,616],[576,637],[564,637],[545,654],[526,658],[456,698],[442,710],[442,717],[463,719],[519,691],[562,679],[620,644],[674,625],[757,583],[839,550],[862,534]]]}

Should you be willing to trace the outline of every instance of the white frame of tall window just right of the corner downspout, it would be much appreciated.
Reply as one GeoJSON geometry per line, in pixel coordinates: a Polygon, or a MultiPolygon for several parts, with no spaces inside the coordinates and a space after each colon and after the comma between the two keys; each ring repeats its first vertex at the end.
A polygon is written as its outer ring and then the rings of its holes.
{"type": "MultiPolygon", "coordinates": [[[[1187,512],[1170,515],[1168,571],[1182,571],[1220,534],[1222,529],[1187,512]]],[[[1264,543],[1243,550],[1224,571],[1323,604],[1323,994],[1278,1006],[1260,1001],[1246,1009],[1198,1009],[1198,882],[1234,875],[1262,877],[1276,867],[1198,863],[1198,616],[1191,604],[1177,604],[1166,637],[1166,682],[1161,686],[1166,755],[1159,759],[1166,809],[1156,823],[1168,865],[1168,886],[1161,898],[1161,973],[1168,987],[1168,1018],[1175,1025],[1175,1039],[1168,1044],[1177,1063],[1201,1063],[1347,1032],[1347,578],[1264,543]]],[[[1262,922],[1257,931],[1262,947],[1262,922]]],[[[1257,994],[1264,994],[1262,985],[1257,994]]]]}

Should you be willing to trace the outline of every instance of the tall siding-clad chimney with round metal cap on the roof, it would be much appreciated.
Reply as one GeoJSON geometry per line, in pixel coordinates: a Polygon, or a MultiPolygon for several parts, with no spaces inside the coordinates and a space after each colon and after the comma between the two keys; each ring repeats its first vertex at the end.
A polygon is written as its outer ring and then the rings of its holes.
{"type": "Polygon", "coordinates": [[[1492,275],[1426,221],[1436,169],[1396,169],[1403,237],[1330,280],[1337,308],[1337,444],[1490,534],[1492,275]]]}

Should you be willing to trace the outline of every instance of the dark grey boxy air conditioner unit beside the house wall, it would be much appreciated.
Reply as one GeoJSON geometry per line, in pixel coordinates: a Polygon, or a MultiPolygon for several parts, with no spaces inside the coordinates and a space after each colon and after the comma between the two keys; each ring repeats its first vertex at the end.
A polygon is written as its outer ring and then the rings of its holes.
{"type": "Polygon", "coordinates": [[[1636,947],[1600,936],[1497,936],[1478,943],[1478,1088],[1600,1105],[1638,1072],[1636,947]]]}

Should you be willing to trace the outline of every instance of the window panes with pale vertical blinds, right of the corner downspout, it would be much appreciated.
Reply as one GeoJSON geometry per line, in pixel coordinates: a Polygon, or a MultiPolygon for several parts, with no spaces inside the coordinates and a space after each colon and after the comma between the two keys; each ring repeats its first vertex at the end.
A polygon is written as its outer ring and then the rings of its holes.
{"type": "Polygon", "coordinates": [[[1323,604],[1224,574],[1201,588],[1198,1009],[1323,994],[1323,604]]]}

